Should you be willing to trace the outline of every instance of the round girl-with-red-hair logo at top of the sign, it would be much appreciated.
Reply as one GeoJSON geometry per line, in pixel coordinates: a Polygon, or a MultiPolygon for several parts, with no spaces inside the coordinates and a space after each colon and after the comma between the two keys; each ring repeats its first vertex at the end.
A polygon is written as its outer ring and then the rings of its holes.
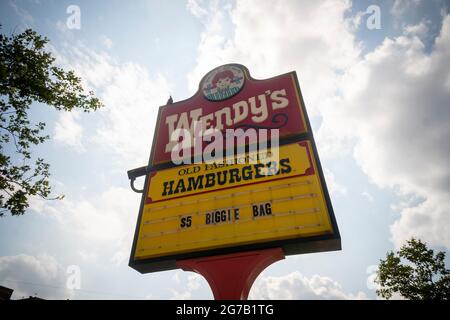
{"type": "Polygon", "coordinates": [[[209,72],[202,91],[210,101],[222,101],[236,95],[244,86],[244,71],[237,65],[224,65],[209,72]]]}

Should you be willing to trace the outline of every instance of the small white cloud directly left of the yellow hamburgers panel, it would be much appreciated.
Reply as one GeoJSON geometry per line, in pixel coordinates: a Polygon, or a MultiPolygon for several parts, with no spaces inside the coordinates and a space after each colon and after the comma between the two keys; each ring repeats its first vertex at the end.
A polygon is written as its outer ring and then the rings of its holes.
{"type": "Polygon", "coordinates": [[[89,198],[34,199],[30,207],[55,218],[65,232],[75,235],[82,258],[113,252],[110,261],[119,265],[129,256],[138,206],[139,196],[131,190],[111,187],[89,198]]]}

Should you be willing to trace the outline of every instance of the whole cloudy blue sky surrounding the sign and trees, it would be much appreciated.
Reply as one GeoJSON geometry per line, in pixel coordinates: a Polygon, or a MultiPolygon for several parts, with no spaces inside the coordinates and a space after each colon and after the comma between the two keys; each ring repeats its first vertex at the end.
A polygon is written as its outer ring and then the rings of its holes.
{"type": "Polygon", "coordinates": [[[31,27],[104,101],[95,114],[36,104],[62,201],[33,199],[0,220],[0,284],[16,297],[211,298],[193,273],[127,266],[139,195],[126,171],[146,164],[158,106],[191,96],[214,67],[255,78],[295,70],[343,250],[289,256],[251,298],[376,298],[374,265],[416,236],[450,247],[448,1],[2,1],[2,32],[31,27]],[[77,5],[80,29],[66,9],[77,5]],[[380,29],[368,19],[380,9],[380,29]],[[81,287],[67,288],[77,266],[81,287]],[[69,268],[70,269],[70,268],[69,268]]]}

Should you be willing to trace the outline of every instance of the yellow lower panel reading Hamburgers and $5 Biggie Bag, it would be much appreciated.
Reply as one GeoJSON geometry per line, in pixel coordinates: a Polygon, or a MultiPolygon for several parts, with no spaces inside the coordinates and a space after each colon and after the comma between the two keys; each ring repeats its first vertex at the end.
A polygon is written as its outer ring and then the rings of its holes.
{"type": "Polygon", "coordinates": [[[311,142],[278,151],[152,172],[134,259],[333,234],[311,142]]]}

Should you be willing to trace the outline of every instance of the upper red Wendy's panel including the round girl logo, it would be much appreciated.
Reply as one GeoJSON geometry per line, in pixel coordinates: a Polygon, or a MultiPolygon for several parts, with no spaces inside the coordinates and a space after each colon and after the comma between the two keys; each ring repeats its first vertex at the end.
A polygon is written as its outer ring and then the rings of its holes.
{"type": "MultiPolygon", "coordinates": [[[[295,72],[255,80],[246,67],[227,64],[210,71],[197,93],[183,101],[160,107],[151,165],[170,162],[180,130],[194,135],[194,124],[203,132],[227,129],[278,129],[279,138],[307,133],[300,90],[295,72]]],[[[267,138],[270,140],[270,138],[267,138]]],[[[205,147],[195,149],[198,151],[205,147]]],[[[194,145],[189,145],[194,154],[194,145]]]]}

